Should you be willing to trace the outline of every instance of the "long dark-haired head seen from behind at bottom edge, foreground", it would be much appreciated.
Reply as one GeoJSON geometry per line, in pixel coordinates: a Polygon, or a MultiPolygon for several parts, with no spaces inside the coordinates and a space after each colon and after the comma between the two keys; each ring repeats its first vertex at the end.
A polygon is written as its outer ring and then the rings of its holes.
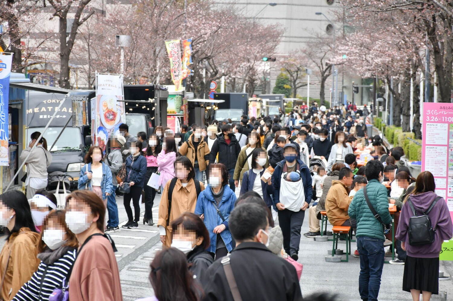
{"type": "Polygon", "coordinates": [[[201,287],[188,270],[186,256],[176,248],[163,249],[156,254],[149,281],[155,296],[137,301],[198,301],[202,296],[201,287]]]}

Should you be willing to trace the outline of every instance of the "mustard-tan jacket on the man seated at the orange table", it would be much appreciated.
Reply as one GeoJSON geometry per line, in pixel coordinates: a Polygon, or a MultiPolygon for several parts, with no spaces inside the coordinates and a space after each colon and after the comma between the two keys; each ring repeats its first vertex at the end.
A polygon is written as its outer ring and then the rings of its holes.
{"type": "Polygon", "coordinates": [[[332,225],[341,226],[349,220],[347,209],[351,201],[352,196],[349,196],[346,186],[338,180],[333,180],[326,197],[326,213],[332,225]]]}

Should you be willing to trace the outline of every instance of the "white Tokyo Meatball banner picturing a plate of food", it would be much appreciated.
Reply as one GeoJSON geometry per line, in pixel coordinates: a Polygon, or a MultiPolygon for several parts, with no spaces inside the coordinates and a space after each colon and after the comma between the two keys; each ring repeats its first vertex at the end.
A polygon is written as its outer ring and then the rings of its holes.
{"type": "MultiPolygon", "coordinates": [[[[105,152],[111,134],[118,134],[118,126],[124,122],[124,104],[117,100],[124,99],[123,76],[120,74],[96,73],[95,114],[93,141],[105,152]]],[[[93,104],[92,104],[93,108],[93,104]]]]}

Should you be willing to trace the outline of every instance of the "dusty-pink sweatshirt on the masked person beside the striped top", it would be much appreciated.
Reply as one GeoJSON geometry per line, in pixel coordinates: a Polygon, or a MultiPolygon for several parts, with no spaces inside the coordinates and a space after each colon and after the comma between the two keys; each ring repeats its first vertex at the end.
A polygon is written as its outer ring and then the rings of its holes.
{"type": "Polygon", "coordinates": [[[69,278],[69,300],[123,300],[120,272],[108,239],[93,236],[83,246],[69,278]]]}

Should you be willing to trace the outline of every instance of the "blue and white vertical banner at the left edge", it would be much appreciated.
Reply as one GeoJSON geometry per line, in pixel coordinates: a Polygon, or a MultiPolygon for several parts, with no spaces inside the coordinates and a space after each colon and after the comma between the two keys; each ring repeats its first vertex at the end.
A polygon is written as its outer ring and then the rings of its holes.
{"type": "Polygon", "coordinates": [[[12,61],[12,53],[0,53],[0,166],[10,165],[8,159],[8,97],[12,61]]]}

